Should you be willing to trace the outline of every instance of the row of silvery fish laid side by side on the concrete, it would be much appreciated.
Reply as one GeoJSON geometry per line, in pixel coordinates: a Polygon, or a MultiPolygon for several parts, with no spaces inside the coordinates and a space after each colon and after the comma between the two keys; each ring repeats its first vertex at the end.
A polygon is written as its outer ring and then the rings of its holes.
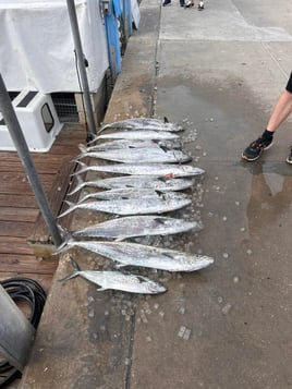
{"type": "MultiPolygon", "coordinates": [[[[124,241],[202,229],[196,221],[160,216],[190,205],[192,199],[181,191],[193,186],[195,175],[204,174],[204,170],[185,165],[192,158],[182,150],[177,134],[182,130],[182,126],[166,119],[129,119],[104,125],[89,145],[80,145],[82,153],[75,159],[80,169],[74,173],[77,184],[69,195],[86,186],[96,187],[98,192],[83,196],[76,204],[66,200],[69,208],[59,218],[77,209],[101,211],[119,218],[77,231],[62,229],[64,243],[56,253],[71,247],[84,248],[114,260],[117,268],[137,266],[194,271],[212,264],[214,259],[208,256],[124,241]],[[109,129],[111,132],[105,133],[109,129]],[[89,158],[90,163],[85,165],[83,158],[89,158]],[[95,159],[111,163],[94,165],[95,159]],[[83,181],[81,174],[87,172],[120,175],[83,181]],[[93,240],[95,238],[102,238],[104,241],[93,240]]],[[[99,290],[117,289],[132,293],[161,293],[167,290],[165,285],[139,275],[119,270],[81,270],[72,257],[71,263],[73,273],[61,281],[81,276],[98,284],[99,290]]]]}

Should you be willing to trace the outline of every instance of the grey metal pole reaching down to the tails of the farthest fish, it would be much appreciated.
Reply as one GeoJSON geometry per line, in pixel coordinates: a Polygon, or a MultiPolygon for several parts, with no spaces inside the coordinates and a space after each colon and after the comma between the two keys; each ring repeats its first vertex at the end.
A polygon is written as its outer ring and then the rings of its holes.
{"type": "Polygon", "coordinates": [[[85,110],[86,110],[86,114],[88,118],[89,134],[93,137],[93,134],[96,134],[96,126],[95,126],[94,111],[93,111],[88,80],[87,80],[86,68],[85,68],[85,57],[84,57],[83,50],[82,50],[80,28],[78,28],[78,22],[77,22],[77,15],[76,15],[74,0],[66,0],[66,7],[68,7],[68,11],[69,11],[69,19],[70,19],[70,24],[71,24],[74,46],[75,46],[75,50],[76,50],[78,70],[81,73],[81,83],[82,83],[83,94],[84,94],[85,110]]]}

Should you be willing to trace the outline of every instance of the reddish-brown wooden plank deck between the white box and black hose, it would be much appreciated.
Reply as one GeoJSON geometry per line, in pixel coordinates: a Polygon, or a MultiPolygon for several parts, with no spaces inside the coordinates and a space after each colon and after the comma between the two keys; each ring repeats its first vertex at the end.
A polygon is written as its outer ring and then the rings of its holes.
{"type": "MultiPolygon", "coordinates": [[[[62,179],[60,172],[63,178],[69,174],[70,160],[80,154],[77,144],[85,143],[85,136],[78,126],[65,125],[48,153],[31,154],[47,197],[51,191],[65,192],[66,183],[58,183],[57,177],[62,179]]],[[[36,220],[38,226],[44,221],[16,151],[0,151],[0,279],[27,276],[45,283],[48,290],[58,259],[39,260],[27,243],[36,220]]],[[[56,196],[50,200],[56,206],[56,196]]],[[[58,202],[60,207],[61,199],[58,202]]]]}

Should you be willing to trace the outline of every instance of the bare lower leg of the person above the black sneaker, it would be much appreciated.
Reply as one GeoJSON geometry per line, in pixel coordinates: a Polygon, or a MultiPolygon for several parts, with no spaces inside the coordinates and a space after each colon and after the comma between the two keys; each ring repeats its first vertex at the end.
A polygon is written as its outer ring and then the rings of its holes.
{"type": "Polygon", "coordinates": [[[292,93],[284,90],[276,102],[276,106],[267,124],[267,130],[275,132],[291,113],[292,93]]]}

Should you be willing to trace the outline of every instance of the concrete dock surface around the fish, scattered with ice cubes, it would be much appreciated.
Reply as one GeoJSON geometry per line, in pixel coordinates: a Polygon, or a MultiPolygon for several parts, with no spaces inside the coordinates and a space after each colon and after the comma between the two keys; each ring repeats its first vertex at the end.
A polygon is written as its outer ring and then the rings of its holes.
{"type": "Polygon", "coordinates": [[[72,271],[70,255],[84,270],[111,266],[89,252],[63,254],[24,389],[292,387],[291,120],[258,161],[241,160],[291,72],[292,2],[196,5],[142,1],[105,122],[184,125],[184,149],[206,173],[192,206],[171,215],[204,229],[146,241],[215,263],[190,273],[134,269],[168,289],[141,296],[98,292],[81,278],[58,282],[72,271]]]}

